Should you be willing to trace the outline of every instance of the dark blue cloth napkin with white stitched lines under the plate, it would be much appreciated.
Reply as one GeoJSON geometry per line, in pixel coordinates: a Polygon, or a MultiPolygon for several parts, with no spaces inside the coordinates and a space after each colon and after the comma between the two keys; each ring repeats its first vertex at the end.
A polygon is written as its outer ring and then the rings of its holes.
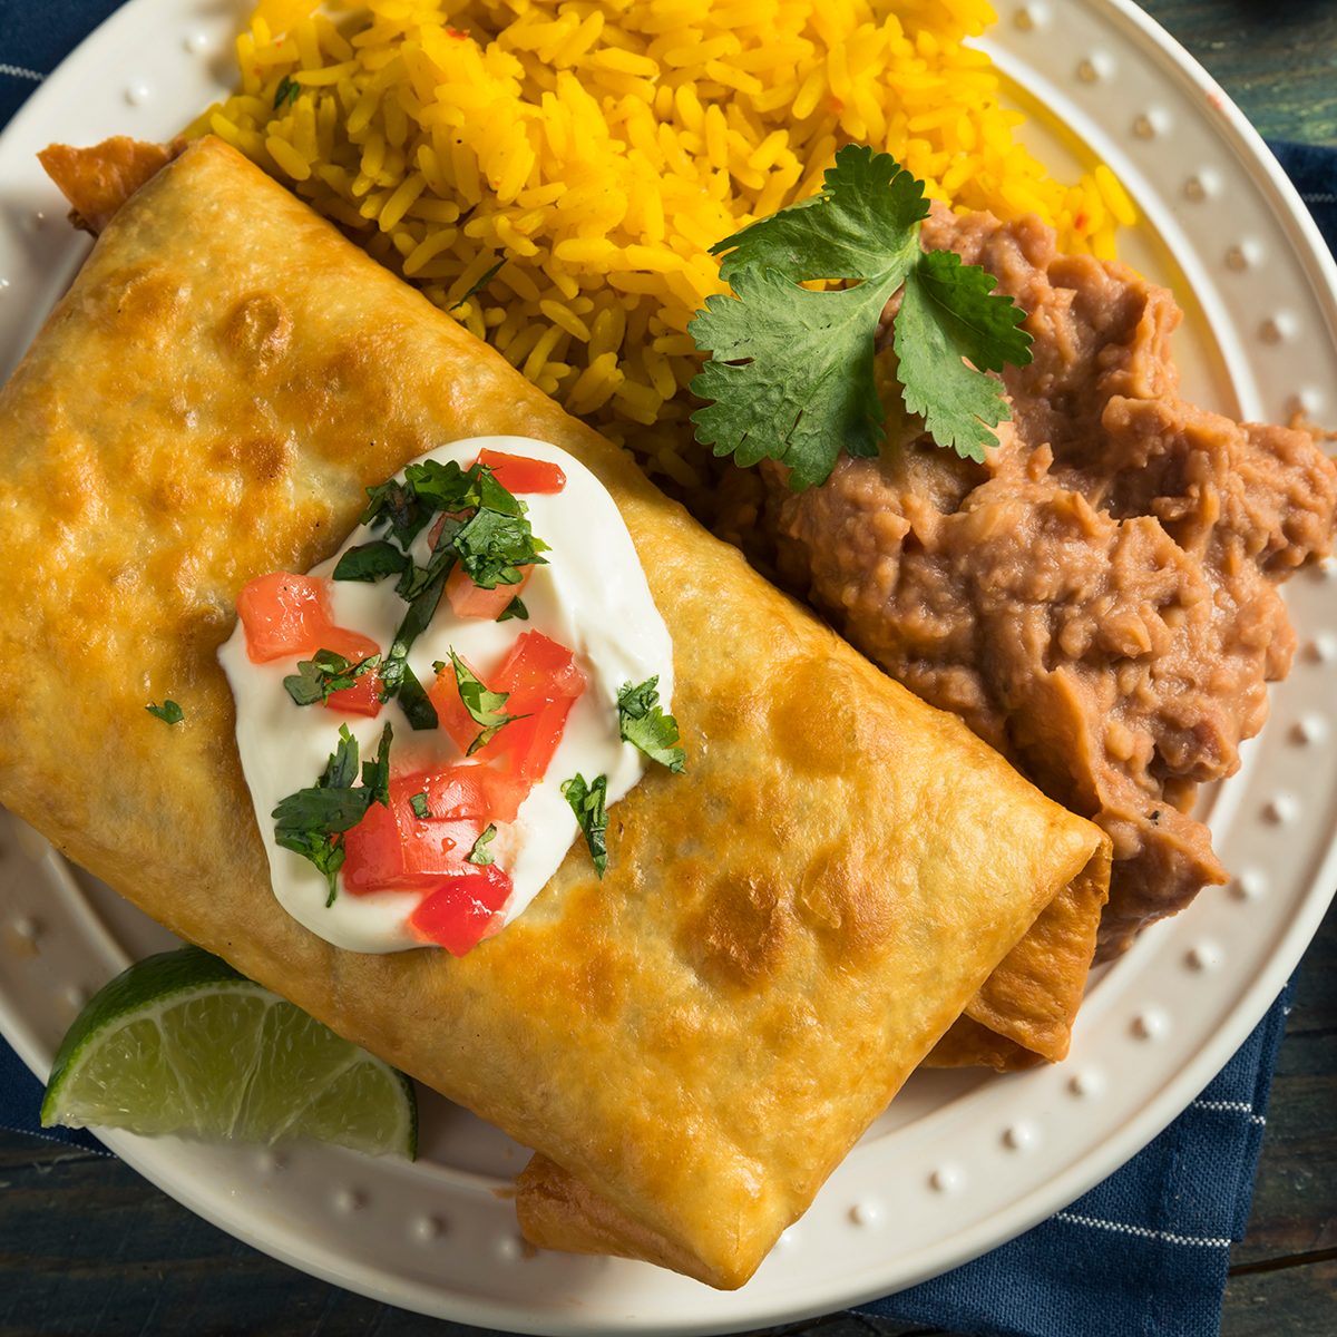
{"type": "MultiPolygon", "coordinates": [[[[0,126],[118,5],[0,0],[0,126]]],[[[1337,150],[1273,151],[1337,249],[1337,150]]],[[[1282,995],[1202,1095],[1104,1183],[1011,1243],[860,1312],[979,1337],[1213,1337],[1288,1011],[1282,995]]],[[[0,1042],[0,1126],[104,1151],[84,1132],[41,1130],[40,1103],[40,1084],[0,1042]]]]}

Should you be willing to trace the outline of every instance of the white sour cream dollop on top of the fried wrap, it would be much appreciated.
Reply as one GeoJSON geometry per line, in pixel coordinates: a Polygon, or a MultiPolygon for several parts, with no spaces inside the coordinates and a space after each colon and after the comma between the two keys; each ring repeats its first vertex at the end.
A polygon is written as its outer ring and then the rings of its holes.
{"type": "MultiPolygon", "coordinates": [[[[667,714],[673,701],[673,642],[616,504],[566,451],[528,437],[488,436],[456,441],[414,463],[453,460],[468,468],[483,449],[548,461],[566,473],[566,487],[558,493],[517,493],[528,507],[533,533],[550,550],[544,552],[547,564],[536,566],[524,587],[529,618],[457,618],[443,599],[431,626],[413,643],[409,664],[418,681],[431,686],[436,678],[433,663],[449,660],[455,650],[487,681],[523,632],[540,631],[572,651],[587,681],[543,778],[513,822],[497,822],[489,850],[513,884],[501,912],[504,927],[537,896],[579,834],[562,782],[578,771],[587,781],[607,775],[607,802],[612,805],[644,774],[644,755],[619,737],[618,691],[658,675],[659,699],[667,714]]],[[[412,556],[420,566],[428,560],[429,528],[413,544],[412,556]]],[[[348,548],[382,536],[360,525],[340,552],[310,575],[329,578],[348,548]]],[[[408,607],[394,592],[394,579],[330,580],[329,588],[333,623],[373,638],[384,655],[408,607]]],[[[408,923],[421,901],[418,893],[354,894],[341,885],[334,902],[326,905],[325,876],[275,842],[270,814],[282,798],[317,782],[338,742],[340,725],[348,726],[366,759],[376,755],[389,721],[394,729],[392,777],[460,763],[459,747],[444,729],[413,730],[397,701],[386,702],[376,718],[295,705],[283,678],[297,671],[298,656],[254,663],[241,624],[218,658],[237,703],[237,747],[278,902],[313,933],[353,952],[401,952],[425,945],[408,923]]]]}

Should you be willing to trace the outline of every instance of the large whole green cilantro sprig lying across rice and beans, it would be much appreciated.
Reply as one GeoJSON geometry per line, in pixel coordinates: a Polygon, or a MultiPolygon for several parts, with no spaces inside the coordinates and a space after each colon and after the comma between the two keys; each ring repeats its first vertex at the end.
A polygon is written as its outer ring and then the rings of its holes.
{"type": "Polygon", "coordinates": [[[876,456],[874,340],[904,285],[893,346],[905,406],[939,445],[984,459],[991,428],[1011,416],[985,373],[1029,362],[1031,336],[984,270],[921,249],[928,211],[923,182],[894,158],[849,144],[816,198],[711,247],[733,295],[709,298],[689,326],[711,354],[691,382],[707,401],[693,413],[703,445],[742,465],[779,460],[794,491],[825,483],[841,449],[876,456]],[[812,279],[857,282],[800,286],[812,279]]]}

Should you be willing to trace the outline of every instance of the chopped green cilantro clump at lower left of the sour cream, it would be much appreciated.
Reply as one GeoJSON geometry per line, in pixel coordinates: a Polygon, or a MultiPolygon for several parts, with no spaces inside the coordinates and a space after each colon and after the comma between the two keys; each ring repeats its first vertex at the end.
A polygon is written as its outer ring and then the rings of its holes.
{"type": "Polygon", "coordinates": [[[326,905],[338,894],[338,870],[344,866],[344,832],[354,828],[372,804],[390,802],[390,739],[386,725],[381,731],[376,761],[362,762],[362,783],[354,787],[358,773],[357,739],[341,725],[338,742],[320,779],[310,789],[299,789],[282,800],[270,816],[275,821],[274,838],[283,849],[310,860],[329,882],[326,905]]]}

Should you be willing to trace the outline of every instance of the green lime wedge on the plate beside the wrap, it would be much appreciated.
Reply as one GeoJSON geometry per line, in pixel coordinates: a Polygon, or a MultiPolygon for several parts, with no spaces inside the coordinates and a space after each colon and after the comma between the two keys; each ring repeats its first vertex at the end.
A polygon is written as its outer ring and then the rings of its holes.
{"type": "Polygon", "coordinates": [[[79,1013],[41,1102],[88,1124],[413,1158],[413,1084],[197,947],[118,975],[79,1013]]]}

